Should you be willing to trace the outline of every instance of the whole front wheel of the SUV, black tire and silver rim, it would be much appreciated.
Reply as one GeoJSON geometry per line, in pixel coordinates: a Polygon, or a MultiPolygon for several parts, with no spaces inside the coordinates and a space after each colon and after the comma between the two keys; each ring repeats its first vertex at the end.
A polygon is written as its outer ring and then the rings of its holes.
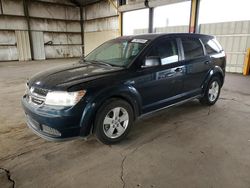
{"type": "Polygon", "coordinates": [[[131,105],[124,100],[110,99],[97,112],[95,135],[104,144],[118,143],[127,136],[133,122],[131,105]]]}

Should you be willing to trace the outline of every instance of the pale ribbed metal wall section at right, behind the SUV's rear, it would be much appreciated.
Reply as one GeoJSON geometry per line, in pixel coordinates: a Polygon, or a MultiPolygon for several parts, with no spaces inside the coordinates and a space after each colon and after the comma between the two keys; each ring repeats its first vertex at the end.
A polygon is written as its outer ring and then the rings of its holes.
{"type": "Polygon", "coordinates": [[[244,58],[250,48],[250,21],[201,24],[200,32],[215,35],[227,54],[228,72],[243,72],[244,58]]]}

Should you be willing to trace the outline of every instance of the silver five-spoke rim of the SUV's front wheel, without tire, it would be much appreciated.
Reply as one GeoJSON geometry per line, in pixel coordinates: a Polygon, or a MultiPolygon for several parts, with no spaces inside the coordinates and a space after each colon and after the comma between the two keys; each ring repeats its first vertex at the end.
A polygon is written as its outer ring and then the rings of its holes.
{"type": "Polygon", "coordinates": [[[109,138],[118,138],[128,127],[129,115],[122,107],[113,108],[103,121],[103,131],[109,138]]]}

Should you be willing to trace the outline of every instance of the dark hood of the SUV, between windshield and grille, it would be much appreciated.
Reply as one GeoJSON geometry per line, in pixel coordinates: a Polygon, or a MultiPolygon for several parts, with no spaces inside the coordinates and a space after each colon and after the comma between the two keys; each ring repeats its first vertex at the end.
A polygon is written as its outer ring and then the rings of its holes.
{"type": "Polygon", "coordinates": [[[29,86],[59,89],[101,78],[122,69],[124,68],[88,62],[64,65],[34,75],[29,80],[29,86]]]}

